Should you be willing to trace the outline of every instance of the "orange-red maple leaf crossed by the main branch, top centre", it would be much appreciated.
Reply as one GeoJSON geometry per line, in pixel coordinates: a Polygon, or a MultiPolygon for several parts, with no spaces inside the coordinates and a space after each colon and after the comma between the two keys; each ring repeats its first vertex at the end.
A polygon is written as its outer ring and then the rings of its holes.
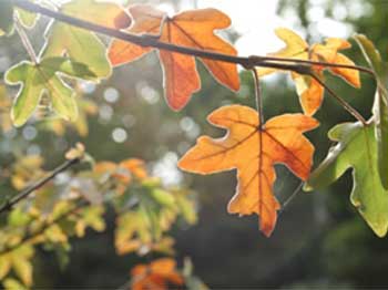
{"type": "MultiPolygon", "coordinates": [[[[150,6],[133,6],[129,9],[134,23],[132,33],[160,34],[160,41],[181,46],[215,51],[237,55],[236,50],[214,34],[214,30],[229,27],[231,20],[215,9],[190,10],[173,18],[150,6]]],[[[114,40],[109,49],[113,65],[132,62],[152,48],[142,48],[132,43],[114,40]]],[[[193,93],[201,89],[201,80],[195,65],[195,58],[175,52],[160,51],[164,71],[164,86],[167,104],[173,110],[183,108],[193,93]]],[[[239,89],[236,64],[201,59],[215,80],[233,91],[239,89]]]]}

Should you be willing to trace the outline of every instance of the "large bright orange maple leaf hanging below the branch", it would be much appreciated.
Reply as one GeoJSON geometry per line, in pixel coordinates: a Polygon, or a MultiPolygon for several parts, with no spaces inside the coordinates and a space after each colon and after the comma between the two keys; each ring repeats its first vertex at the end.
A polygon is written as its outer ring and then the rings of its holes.
{"type": "Polygon", "coordinates": [[[261,230],[270,236],[280,208],[273,194],[274,165],[283,163],[306,180],[314,146],[302,133],[317,127],[318,122],[303,114],[285,114],[261,126],[257,112],[241,105],[221,107],[208,121],[228,130],[227,135],[218,139],[200,137],[197,145],[180,160],[180,168],[198,174],[237,168],[237,193],[228,211],[242,216],[257,214],[261,230]]]}

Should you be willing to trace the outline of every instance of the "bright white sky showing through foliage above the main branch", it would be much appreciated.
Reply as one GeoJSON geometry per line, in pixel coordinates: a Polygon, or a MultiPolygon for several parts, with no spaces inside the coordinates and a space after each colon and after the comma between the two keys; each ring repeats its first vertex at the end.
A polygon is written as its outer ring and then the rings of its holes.
{"type": "MultiPolygon", "coordinates": [[[[51,0],[53,2],[67,2],[69,0],[51,0]]],[[[135,0],[111,0],[118,3],[135,4],[135,0]]],[[[174,13],[174,8],[166,4],[159,4],[159,0],[149,0],[150,4],[174,13]]],[[[361,15],[367,13],[367,2],[364,0],[353,0],[346,7],[340,2],[333,2],[334,15],[336,19],[325,17],[321,8],[327,0],[310,0],[313,4],[307,17],[312,20],[309,31],[313,32],[314,41],[321,41],[323,38],[348,38],[353,30],[349,24],[341,22],[348,14],[361,15]]],[[[278,27],[293,29],[302,37],[305,31],[298,24],[298,19],[294,11],[286,11],[285,15],[276,14],[278,0],[178,0],[178,9],[216,8],[225,12],[232,19],[232,28],[241,34],[235,46],[242,56],[251,54],[264,55],[280,49],[282,43],[274,30],[278,27]]]]}

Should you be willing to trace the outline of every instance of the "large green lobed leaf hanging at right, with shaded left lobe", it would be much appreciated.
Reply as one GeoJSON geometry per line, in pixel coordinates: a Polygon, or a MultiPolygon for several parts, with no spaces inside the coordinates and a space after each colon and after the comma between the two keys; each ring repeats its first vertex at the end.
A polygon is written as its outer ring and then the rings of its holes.
{"type": "Polygon", "coordinates": [[[329,138],[337,144],[312,173],[305,189],[326,187],[353,168],[350,201],[376,235],[384,237],[388,230],[388,190],[378,174],[375,124],[339,124],[330,130],[329,138]]]}

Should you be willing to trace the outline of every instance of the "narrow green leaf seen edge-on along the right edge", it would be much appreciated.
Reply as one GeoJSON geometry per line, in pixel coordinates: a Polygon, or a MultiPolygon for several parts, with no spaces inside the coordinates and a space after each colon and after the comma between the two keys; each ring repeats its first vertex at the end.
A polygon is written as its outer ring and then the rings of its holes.
{"type": "Polygon", "coordinates": [[[372,113],[378,144],[378,168],[382,185],[388,189],[388,64],[382,62],[380,53],[369,39],[363,34],[357,34],[355,39],[376,75],[377,89],[372,113]]]}

